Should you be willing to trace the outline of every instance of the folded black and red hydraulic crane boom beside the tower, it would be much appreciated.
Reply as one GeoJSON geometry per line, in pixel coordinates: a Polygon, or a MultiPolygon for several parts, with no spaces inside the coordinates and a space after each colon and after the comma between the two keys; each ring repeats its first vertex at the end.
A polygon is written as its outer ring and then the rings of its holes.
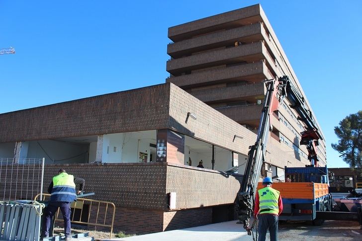
{"type": "Polygon", "coordinates": [[[257,141],[250,147],[241,189],[238,193],[239,220],[243,222],[244,228],[248,231],[249,235],[251,235],[249,221],[253,213],[254,194],[258,186],[261,167],[265,160],[269,130],[272,128],[270,116],[278,109],[279,103],[283,98],[286,97],[288,99],[290,107],[298,114],[298,120],[305,124],[305,131],[301,133],[300,144],[306,145],[308,159],[311,162],[317,162],[316,145],[318,145],[318,139],[322,138],[311,115],[311,111],[305,105],[304,98],[291,84],[287,76],[280,77],[277,83],[274,80],[268,80],[265,83],[267,85],[267,93],[260,119],[257,141]]]}

